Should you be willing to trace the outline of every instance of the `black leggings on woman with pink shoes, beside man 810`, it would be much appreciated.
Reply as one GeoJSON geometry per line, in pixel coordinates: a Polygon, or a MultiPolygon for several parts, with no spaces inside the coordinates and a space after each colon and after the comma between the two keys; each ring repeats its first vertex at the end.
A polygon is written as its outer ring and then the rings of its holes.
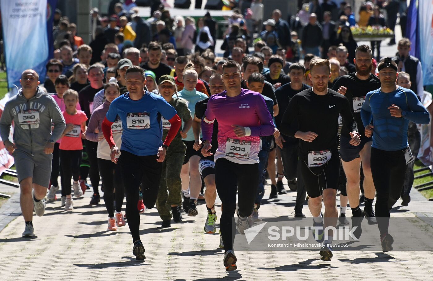
{"type": "Polygon", "coordinates": [[[122,211],[123,196],[125,194],[122,181],[120,165],[116,165],[111,160],[98,158],[98,168],[104,185],[104,202],[107,208],[108,216],[114,217],[113,210],[113,192],[116,188],[116,211],[122,211]]]}

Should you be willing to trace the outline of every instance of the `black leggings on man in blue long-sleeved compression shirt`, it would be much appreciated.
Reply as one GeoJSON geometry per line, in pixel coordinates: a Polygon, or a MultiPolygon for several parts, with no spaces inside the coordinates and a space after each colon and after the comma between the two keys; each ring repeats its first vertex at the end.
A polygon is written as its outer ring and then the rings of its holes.
{"type": "Polygon", "coordinates": [[[375,213],[383,235],[388,233],[389,210],[400,198],[407,165],[403,150],[385,151],[374,147],[370,163],[377,194],[375,213]]]}

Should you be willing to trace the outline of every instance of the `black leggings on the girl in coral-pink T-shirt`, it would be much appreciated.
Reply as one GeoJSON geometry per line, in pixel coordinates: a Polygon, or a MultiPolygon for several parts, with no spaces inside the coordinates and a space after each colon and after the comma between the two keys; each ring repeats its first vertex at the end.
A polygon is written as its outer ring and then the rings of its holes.
{"type": "Polygon", "coordinates": [[[61,190],[63,194],[71,195],[71,177],[74,181],[80,179],[80,161],[83,150],[60,150],[60,166],[63,171],[61,190]]]}

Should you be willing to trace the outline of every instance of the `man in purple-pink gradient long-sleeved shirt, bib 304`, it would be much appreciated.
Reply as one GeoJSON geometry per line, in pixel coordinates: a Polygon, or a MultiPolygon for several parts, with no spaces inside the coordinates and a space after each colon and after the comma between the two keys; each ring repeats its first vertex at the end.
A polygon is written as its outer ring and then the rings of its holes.
{"type": "Polygon", "coordinates": [[[233,252],[232,218],[239,196],[237,229],[244,234],[249,225],[259,179],[260,136],[274,132],[272,117],[259,93],[241,89],[242,72],[236,61],[223,64],[226,91],[209,99],[201,122],[204,134],[203,156],[212,152],[213,123],[218,120],[218,149],[215,152],[215,184],[223,210],[220,219],[226,271],[237,268],[233,252]]]}

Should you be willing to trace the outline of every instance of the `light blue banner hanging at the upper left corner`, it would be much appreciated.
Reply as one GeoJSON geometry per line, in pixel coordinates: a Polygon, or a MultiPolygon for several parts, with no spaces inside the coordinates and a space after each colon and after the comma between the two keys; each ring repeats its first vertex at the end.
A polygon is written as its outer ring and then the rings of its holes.
{"type": "Polygon", "coordinates": [[[47,0],[1,0],[7,83],[19,86],[21,73],[33,69],[45,80],[48,59],[47,0]]]}

